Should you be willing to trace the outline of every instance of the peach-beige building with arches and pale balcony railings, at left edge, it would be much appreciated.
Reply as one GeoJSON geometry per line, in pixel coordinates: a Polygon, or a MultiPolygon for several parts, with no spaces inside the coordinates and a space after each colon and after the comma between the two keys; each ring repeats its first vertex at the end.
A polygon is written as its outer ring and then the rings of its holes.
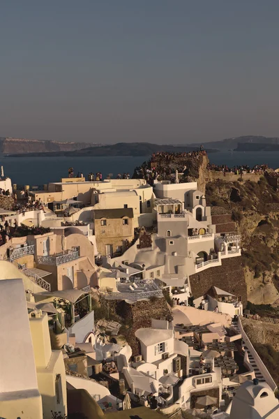
{"type": "Polygon", "coordinates": [[[0,258],[8,258],[21,267],[24,274],[47,291],[93,286],[94,253],[93,244],[75,227],[16,237],[0,248],[0,258]]]}

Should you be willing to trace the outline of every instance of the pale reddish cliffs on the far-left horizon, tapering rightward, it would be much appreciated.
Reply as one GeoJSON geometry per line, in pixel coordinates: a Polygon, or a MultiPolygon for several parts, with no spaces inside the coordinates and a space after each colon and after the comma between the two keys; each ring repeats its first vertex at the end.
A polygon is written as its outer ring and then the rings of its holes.
{"type": "Polygon", "coordinates": [[[29,140],[27,138],[0,138],[1,154],[27,154],[33,152],[70,152],[93,146],[89,142],[59,142],[29,140]]]}

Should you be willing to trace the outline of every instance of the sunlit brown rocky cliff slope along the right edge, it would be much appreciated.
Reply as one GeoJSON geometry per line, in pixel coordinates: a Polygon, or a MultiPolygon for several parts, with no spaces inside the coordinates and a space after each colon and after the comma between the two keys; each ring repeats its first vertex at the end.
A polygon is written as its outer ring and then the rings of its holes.
{"type": "Polygon", "coordinates": [[[279,192],[264,176],[216,179],[206,184],[206,202],[231,212],[241,233],[248,300],[279,304],[279,192]]]}

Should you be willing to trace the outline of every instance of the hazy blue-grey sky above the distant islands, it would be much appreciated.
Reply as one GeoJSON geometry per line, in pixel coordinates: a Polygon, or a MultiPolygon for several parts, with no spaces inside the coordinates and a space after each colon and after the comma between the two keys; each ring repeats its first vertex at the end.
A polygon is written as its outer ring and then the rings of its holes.
{"type": "Polygon", "coordinates": [[[1,0],[0,136],[279,136],[278,0],[1,0]]]}

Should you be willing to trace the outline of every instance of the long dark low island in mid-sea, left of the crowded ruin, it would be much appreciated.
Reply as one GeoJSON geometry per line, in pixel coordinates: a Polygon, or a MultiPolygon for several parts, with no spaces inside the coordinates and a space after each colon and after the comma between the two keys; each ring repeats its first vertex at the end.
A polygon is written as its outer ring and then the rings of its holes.
{"type": "MultiPolygon", "coordinates": [[[[149,142],[118,142],[113,145],[103,145],[99,147],[86,147],[84,149],[75,150],[73,152],[36,152],[24,154],[10,154],[10,156],[29,156],[29,157],[52,157],[52,156],[151,156],[154,152],[193,152],[199,147],[192,146],[174,146],[174,145],[158,145],[149,142]]],[[[218,152],[218,150],[207,149],[207,152],[218,152]]]]}

